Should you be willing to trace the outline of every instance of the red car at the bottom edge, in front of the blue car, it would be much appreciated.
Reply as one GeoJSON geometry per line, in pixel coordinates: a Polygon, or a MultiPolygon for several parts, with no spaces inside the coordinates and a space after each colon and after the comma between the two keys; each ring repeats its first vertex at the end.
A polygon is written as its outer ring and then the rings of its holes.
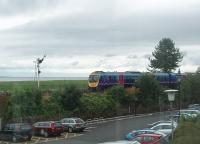
{"type": "Polygon", "coordinates": [[[141,134],[132,141],[138,141],[141,144],[160,144],[161,137],[159,134],[141,134]]]}

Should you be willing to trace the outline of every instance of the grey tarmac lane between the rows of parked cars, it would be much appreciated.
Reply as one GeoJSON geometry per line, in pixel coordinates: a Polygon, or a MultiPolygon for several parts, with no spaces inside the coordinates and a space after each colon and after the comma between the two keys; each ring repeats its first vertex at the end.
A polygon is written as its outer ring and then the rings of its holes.
{"type": "Polygon", "coordinates": [[[125,134],[133,129],[147,128],[149,123],[165,119],[169,112],[119,118],[117,120],[90,125],[83,133],[64,140],[46,142],[48,144],[97,144],[100,142],[123,140],[125,134]]]}

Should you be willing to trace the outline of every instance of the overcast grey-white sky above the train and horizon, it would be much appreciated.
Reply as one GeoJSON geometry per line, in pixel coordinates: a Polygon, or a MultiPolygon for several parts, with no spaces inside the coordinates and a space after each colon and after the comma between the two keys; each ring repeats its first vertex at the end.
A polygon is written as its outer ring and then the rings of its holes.
{"type": "Polygon", "coordinates": [[[200,65],[199,0],[0,0],[0,76],[87,77],[96,70],[147,71],[159,40],[200,65]]]}

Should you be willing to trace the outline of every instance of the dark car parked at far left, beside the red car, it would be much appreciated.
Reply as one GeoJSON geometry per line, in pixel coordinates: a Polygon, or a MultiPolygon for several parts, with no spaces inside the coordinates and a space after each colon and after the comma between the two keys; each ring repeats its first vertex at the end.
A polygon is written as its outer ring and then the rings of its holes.
{"type": "Polygon", "coordinates": [[[28,123],[6,124],[0,131],[0,140],[5,141],[30,141],[32,138],[32,127],[28,123]]]}

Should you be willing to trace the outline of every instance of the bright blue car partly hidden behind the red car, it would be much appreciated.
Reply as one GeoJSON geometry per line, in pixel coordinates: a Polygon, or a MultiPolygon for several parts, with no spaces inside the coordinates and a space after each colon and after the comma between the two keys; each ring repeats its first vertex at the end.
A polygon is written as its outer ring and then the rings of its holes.
{"type": "Polygon", "coordinates": [[[125,139],[126,140],[132,140],[134,139],[135,137],[137,137],[138,135],[141,135],[141,134],[159,134],[163,137],[165,137],[166,135],[164,133],[161,133],[159,131],[156,131],[156,130],[152,130],[152,129],[142,129],[142,130],[134,130],[130,133],[128,133],[126,136],[125,136],[125,139]]]}

